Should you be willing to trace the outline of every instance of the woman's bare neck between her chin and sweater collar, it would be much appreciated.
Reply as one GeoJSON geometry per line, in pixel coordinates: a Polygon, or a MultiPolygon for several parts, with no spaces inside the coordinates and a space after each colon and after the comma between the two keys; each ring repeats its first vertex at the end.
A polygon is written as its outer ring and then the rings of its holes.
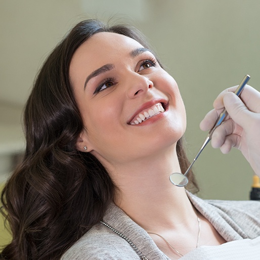
{"type": "Polygon", "coordinates": [[[147,231],[188,225],[195,212],[185,189],[170,183],[172,172],[180,172],[176,153],[117,168],[112,172],[119,188],[115,204],[147,231]]]}

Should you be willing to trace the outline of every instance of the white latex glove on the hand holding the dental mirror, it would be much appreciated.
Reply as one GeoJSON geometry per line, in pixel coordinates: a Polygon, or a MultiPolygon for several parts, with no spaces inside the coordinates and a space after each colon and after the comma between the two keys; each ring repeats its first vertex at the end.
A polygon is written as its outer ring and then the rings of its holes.
{"type": "Polygon", "coordinates": [[[212,134],[211,145],[228,153],[239,149],[260,177],[260,93],[246,85],[240,98],[233,92],[237,86],[223,91],[200,123],[203,131],[211,129],[225,107],[228,116],[212,134]]]}

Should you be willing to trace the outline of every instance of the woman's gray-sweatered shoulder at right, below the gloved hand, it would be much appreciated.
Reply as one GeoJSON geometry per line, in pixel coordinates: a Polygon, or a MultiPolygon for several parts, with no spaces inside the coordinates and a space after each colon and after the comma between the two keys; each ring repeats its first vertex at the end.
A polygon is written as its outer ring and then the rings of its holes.
{"type": "Polygon", "coordinates": [[[255,238],[260,235],[260,202],[203,200],[188,194],[193,205],[227,239],[255,238]]]}

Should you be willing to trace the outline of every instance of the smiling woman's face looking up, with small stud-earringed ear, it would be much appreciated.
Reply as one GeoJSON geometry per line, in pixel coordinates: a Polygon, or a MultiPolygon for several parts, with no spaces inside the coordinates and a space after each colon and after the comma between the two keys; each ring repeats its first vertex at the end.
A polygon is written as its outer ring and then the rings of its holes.
{"type": "Polygon", "coordinates": [[[85,126],[77,148],[87,146],[106,165],[155,155],[183,136],[178,85],[136,40],[94,34],[76,50],[69,74],[85,126]]]}

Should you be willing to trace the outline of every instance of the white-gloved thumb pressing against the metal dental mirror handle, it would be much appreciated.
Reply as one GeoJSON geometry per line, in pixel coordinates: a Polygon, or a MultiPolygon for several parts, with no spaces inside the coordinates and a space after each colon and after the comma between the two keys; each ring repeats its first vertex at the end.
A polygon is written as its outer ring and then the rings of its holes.
{"type": "Polygon", "coordinates": [[[223,98],[223,103],[233,121],[240,126],[248,123],[248,116],[251,112],[236,94],[227,93],[223,98]]]}

